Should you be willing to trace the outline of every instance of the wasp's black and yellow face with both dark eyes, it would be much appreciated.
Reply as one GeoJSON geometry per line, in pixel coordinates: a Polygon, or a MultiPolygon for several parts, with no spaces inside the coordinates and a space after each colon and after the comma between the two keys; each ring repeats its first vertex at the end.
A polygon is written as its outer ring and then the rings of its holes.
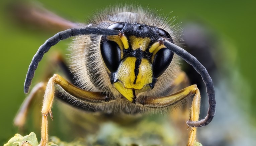
{"type": "Polygon", "coordinates": [[[170,65],[173,52],[161,42],[172,41],[165,30],[138,23],[114,23],[109,29],[119,30],[118,36],[102,36],[100,51],[110,82],[129,101],[136,94],[153,89],[170,65]]]}

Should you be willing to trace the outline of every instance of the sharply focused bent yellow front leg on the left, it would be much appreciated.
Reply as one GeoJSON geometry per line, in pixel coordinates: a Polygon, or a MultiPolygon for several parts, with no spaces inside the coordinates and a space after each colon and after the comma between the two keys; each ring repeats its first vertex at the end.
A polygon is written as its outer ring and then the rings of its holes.
{"type": "Polygon", "coordinates": [[[48,142],[48,120],[47,116],[50,114],[53,119],[52,114],[52,105],[54,99],[54,84],[58,84],[62,87],[67,93],[74,96],[75,98],[79,98],[88,103],[102,103],[106,101],[106,96],[101,92],[90,92],[82,90],[73,84],[69,83],[63,77],[58,74],[54,74],[53,77],[47,83],[43,106],[42,106],[42,126],[41,126],[41,142],[40,146],[46,146],[48,142]]]}

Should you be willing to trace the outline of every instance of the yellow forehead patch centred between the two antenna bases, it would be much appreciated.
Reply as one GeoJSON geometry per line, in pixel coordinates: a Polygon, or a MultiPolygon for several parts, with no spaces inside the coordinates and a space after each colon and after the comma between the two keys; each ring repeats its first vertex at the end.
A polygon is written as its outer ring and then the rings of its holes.
{"type": "Polygon", "coordinates": [[[137,38],[135,36],[129,36],[129,40],[133,50],[141,49],[142,51],[146,51],[150,43],[150,38],[137,38]]]}

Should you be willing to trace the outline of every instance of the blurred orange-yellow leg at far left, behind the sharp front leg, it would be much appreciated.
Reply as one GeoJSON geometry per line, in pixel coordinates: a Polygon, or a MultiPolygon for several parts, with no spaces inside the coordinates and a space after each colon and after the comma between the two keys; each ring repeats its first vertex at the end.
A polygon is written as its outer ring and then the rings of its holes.
{"type": "Polygon", "coordinates": [[[22,129],[25,124],[28,109],[30,108],[32,101],[35,100],[36,94],[40,91],[44,91],[45,88],[46,88],[46,84],[43,82],[36,84],[33,87],[30,94],[23,101],[18,113],[16,114],[16,116],[14,118],[14,125],[19,127],[19,129],[22,129]]]}

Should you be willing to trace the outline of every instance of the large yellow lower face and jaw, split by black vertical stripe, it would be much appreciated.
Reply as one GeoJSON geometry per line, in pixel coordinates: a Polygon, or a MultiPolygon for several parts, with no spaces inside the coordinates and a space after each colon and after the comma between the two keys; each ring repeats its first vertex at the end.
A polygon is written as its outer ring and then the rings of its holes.
{"type": "Polygon", "coordinates": [[[150,87],[148,84],[152,83],[153,80],[152,64],[147,59],[143,58],[139,66],[139,74],[137,75],[136,83],[134,83],[136,78],[136,60],[136,57],[125,58],[120,63],[115,74],[115,80],[118,79],[118,81],[113,83],[116,90],[131,102],[135,97],[133,89],[135,89],[136,93],[149,90],[150,87]]]}

